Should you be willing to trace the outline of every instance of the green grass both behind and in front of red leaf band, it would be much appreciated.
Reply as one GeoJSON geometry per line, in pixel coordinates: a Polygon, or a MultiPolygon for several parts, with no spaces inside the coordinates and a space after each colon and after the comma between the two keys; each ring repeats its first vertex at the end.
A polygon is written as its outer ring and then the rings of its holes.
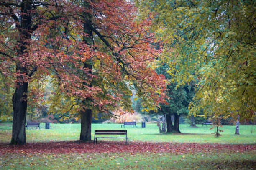
{"type": "MultiPolygon", "coordinates": [[[[240,125],[240,135],[235,135],[235,126],[223,126],[222,136],[215,138],[214,130],[209,130],[210,125],[197,125],[198,128],[190,128],[189,125],[180,125],[182,134],[159,134],[156,124],[146,124],[146,128],[120,128],[120,124],[92,124],[92,137],[94,130],[128,130],[128,137],[132,141],[175,142],[175,143],[239,143],[256,144],[256,126],[240,125]],[[252,129],[252,134],[251,134],[252,129]]],[[[8,143],[11,139],[11,124],[0,124],[0,143],[8,143]]],[[[29,128],[26,130],[26,141],[74,141],[79,140],[80,124],[50,124],[50,129],[29,128]]],[[[106,139],[110,140],[110,139],[106,139]]],[[[122,147],[116,146],[116,147],[122,147]]],[[[189,149],[189,148],[188,148],[189,149]]],[[[256,164],[256,151],[227,152],[227,150],[199,151],[197,153],[70,153],[70,154],[32,154],[0,153],[0,169],[254,169],[256,164]]]]}

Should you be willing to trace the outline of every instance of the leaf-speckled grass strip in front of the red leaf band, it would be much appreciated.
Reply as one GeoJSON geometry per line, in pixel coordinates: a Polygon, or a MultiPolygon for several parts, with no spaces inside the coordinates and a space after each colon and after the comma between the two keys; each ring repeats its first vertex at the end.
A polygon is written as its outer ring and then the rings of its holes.
{"type": "Polygon", "coordinates": [[[239,169],[255,168],[255,152],[250,153],[95,153],[95,154],[6,154],[0,157],[0,169],[239,169]]]}

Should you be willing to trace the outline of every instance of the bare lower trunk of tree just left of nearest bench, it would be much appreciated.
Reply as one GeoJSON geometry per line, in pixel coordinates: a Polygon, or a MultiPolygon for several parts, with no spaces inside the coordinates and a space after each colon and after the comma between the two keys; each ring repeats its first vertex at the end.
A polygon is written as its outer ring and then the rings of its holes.
{"type": "Polygon", "coordinates": [[[92,110],[86,109],[81,111],[81,133],[80,140],[90,141],[92,140],[92,110]]]}

